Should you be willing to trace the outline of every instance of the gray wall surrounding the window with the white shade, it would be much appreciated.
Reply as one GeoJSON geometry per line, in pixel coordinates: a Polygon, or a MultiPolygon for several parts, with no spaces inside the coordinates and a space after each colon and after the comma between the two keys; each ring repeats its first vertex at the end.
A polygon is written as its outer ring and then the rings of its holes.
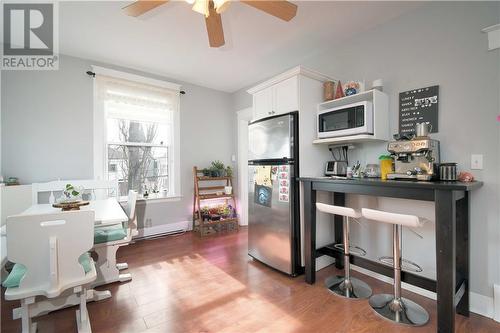
{"type": "MultiPolygon", "coordinates": [[[[148,203],[140,213],[151,225],[191,220],[192,167],[235,153],[231,95],[74,57],[62,56],[58,71],[5,71],[1,78],[2,172],[23,184],[93,176],[93,85],[91,65],[182,84],[180,201],[148,203]]],[[[231,165],[231,164],[230,164],[231,165]]]]}

